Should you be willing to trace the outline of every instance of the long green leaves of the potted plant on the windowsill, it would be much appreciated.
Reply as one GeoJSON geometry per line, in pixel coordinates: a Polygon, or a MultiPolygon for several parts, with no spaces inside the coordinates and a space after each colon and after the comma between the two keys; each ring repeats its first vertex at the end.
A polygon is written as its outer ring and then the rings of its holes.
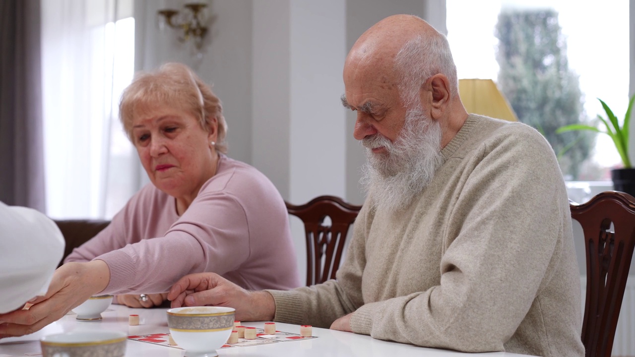
{"type": "Polygon", "coordinates": [[[629,100],[629,106],[626,109],[624,121],[622,121],[624,125],[621,127],[617,117],[613,114],[613,111],[608,107],[608,105],[606,105],[606,103],[600,98],[598,98],[598,100],[606,112],[606,118],[598,115],[598,119],[604,124],[606,131],[601,131],[596,126],[572,124],[559,128],[556,130],[556,133],[566,133],[568,131],[577,130],[589,130],[597,133],[605,133],[613,139],[613,144],[615,144],[615,149],[617,149],[618,154],[620,154],[620,158],[622,158],[624,168],[631,168],[631,160],[629,159],[629,123],[631,121],[631,109],[633,102],[635,102],[635,94],[631,97],[631,100],[629,100]]]}

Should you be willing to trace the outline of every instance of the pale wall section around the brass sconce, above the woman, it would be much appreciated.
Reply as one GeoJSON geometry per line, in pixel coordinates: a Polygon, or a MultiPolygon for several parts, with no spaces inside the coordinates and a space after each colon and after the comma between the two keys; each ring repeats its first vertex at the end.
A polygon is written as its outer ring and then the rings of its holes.
{"type": "MultiPolygon", "coordinates": [[[[177,41],[178,31],[159,31],[161,8],[182,9],[183,1],[136,0],[135,71],[151,71],[166,62],[182,62],[194,69],[222,100],[229,131],[229,155],[251,163],[251,0],[213,1],[215,21],[206,37],[203,57],[177,41]]],[[[208,3],[209,4],[209,3],[208,3]]]]}

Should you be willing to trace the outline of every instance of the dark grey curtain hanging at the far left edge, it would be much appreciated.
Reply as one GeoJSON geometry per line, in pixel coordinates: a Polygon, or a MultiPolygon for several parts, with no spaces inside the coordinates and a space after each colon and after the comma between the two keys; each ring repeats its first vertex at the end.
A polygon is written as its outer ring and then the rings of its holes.
{"type": "Polygon", "coordinates": [[[0,1],[0,201],[44,212],[40,0],[0,1]]]}

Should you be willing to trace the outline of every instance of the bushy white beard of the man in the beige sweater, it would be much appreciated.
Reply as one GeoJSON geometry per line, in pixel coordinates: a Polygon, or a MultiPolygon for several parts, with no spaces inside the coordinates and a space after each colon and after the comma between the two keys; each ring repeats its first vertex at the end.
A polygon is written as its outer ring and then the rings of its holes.
{"type": "Polygon", "coordinates": [[[421,109],[410,109],[395,142],[377,133],[362,139],[368,163],[361,184],[372,194],[375,209],[403,210],[434,177],[441,166],[441,126],[421,109]],[[386,152],[371,149],[383,146],[386,152]]]}

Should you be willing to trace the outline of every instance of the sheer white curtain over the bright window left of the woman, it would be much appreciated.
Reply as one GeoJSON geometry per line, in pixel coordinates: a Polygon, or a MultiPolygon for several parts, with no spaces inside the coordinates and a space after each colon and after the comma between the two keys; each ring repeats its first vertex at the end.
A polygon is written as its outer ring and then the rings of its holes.
{"type": "Polygon", "coordinates": [[[118,119],[133,76],[132,0],[42,1],[46,213],[110,218],[138,189],[118,119]]]}

